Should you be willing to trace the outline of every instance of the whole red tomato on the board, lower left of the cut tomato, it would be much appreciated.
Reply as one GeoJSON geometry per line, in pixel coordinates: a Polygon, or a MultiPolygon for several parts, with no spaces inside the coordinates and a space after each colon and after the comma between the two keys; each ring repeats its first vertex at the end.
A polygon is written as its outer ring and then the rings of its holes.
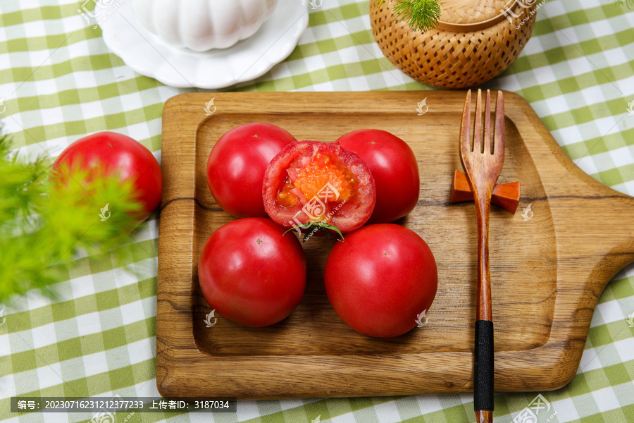
{"type": "Polygon", "coordinates": [[[218,314],[261,327],[285,319],[302,300],[306,257],[292,233],[261,217],[216,229],[198,263],[200,287],[218,314]]]}

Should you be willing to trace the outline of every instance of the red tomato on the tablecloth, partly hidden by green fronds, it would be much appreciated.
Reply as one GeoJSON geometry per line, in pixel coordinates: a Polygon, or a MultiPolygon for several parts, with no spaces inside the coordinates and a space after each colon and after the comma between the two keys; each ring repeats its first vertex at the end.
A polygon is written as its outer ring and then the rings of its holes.
{"type": "Polygon", "coordinates": [[[133,180],[135,196],[143,204],[139,221],[144,221],[159,206],[163,195],[161,166],[149,149],[128,135],[99,132],[73,142],[64,149],[53,164],[53,181],[66,179],[68,170],[80,166],[91,170],[88,178],[118,173],[122,181],[133,180]],[[60,171],[63,168],[65,171],[60,171]]]}

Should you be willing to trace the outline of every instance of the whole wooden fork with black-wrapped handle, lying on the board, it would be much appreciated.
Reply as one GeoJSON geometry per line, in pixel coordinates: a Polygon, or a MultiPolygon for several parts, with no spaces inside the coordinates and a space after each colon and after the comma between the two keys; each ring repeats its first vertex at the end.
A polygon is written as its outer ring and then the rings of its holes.
{"type": "Polygon", "coordinates": [[[471,90],[467,92],[460,130],[460,161],[471,185],[478,219],[478,300],[473,357],[473,408],[477,423],[493,422],[493,318],[489,274],[489,211],[491,195],[504,164],[504,97],[497,92],[495,128],[491,141],[490,90],[482,128],[482,97],[475,100],[471,142],[471,90]]]}

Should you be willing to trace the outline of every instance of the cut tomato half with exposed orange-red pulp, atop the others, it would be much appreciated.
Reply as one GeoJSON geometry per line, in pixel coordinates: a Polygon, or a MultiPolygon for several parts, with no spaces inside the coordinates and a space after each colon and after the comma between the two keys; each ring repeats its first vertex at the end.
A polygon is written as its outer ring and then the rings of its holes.
{"type": "Polygon", "coordinates": [[[298,141],[271,160],[263,183],[264,208],[276,223],[354,231],[375,203],[374,179],[359,157],[335,142],[298,141]]]}

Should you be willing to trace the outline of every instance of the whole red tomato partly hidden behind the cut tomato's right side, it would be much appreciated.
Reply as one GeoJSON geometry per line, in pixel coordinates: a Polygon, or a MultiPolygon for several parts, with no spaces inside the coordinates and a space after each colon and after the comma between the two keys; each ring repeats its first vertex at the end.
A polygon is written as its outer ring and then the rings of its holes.
{"type": "Polygon", "coordinates": [[[355,130],[337,142],[358,154],[374,176],[376,205],[368,223],[389,223],[414,210],[421,180],[416,156],[406,142],[378,129],[355,130]]]}

